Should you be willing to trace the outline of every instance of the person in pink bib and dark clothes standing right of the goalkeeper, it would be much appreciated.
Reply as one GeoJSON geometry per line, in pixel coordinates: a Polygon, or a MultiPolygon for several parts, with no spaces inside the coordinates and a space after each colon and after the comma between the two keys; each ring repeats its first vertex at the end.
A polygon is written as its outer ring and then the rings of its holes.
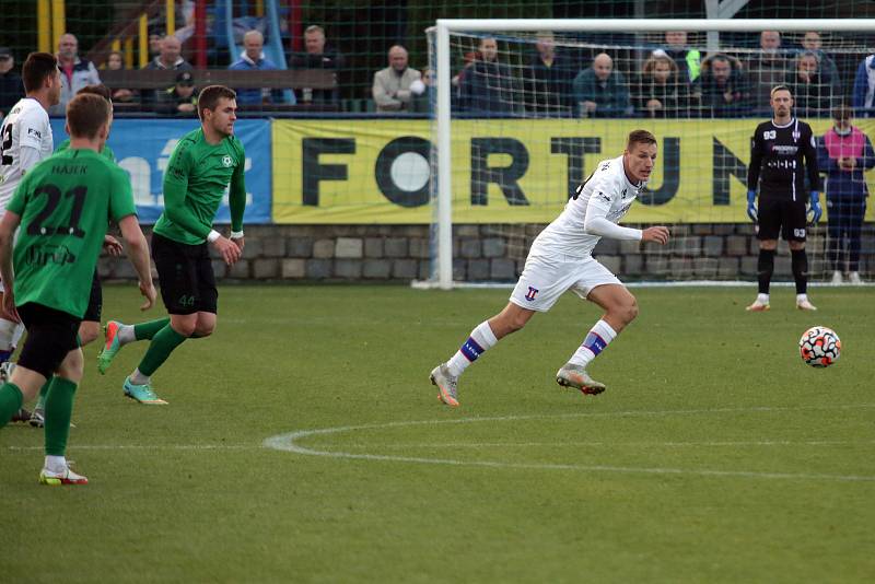
{"type": "Polygon", "coordinates": [[[848,281],[860,283],[860,236],[866,214],[868,188],[864,171],[875,166],[872,142],[853,126],[853,110],[837,107],[835,125],[818,141],[817,166],[827,174],[827,225],[832,283],[841,283],[844,267],[842,242],[848,242],[848,281]]]}

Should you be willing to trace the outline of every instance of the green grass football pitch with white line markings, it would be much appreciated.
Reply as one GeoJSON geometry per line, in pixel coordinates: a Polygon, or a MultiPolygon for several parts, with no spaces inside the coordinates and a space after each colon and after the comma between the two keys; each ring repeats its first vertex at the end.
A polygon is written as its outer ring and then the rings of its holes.
{"type": "MultiPolygon", "coordinates": [[[[144,343],[103,377],[86,348],[88,487],[40,487],[42,432],[0,431],[0,581],[873,582],[873,289],[815,288],[814,314],[755,292],[634,289],[595,397],[553,379],[599,314],[565,295],[451,410],[429,372],[508,290],[224,287],[154,377],[166,407],[121,395],[144,343]],[[798,357],[813,325],[830,369],[798,357]]],[[[107,287],[104,317],[138,297],[107,287]]]]}

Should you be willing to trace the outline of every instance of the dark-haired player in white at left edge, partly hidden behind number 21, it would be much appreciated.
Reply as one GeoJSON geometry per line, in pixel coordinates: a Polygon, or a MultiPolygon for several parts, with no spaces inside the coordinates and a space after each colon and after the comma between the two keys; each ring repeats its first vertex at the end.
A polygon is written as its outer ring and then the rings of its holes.
{"type": "MultiPolygon", "coordinates": [[[[54,149],[48,108],[60,101],[58,60],[48,52],[32,52],[22,67],[22,81],[26,96],[12,107],[0,126],[0,218],[24,174],[54,149]]],[[[0,301],[2,294],[0,282],[0,301]]],[[[0,366],[9,361],[23,332],[21,323],[0,316],[0,366]]],[[[13,421],[27,421],[30,417],[22,409],[13,421]]]]}

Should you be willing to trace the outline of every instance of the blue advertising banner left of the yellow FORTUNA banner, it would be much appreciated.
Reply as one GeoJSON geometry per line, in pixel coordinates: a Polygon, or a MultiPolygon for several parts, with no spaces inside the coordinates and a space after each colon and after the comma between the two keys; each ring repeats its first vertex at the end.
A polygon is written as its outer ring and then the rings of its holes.
{"type": "MultiPolygon", "coordinates": [[[[51,118],[55,144],[68,138],[63,118],[51,118]]],[[[140,223],[152,224],[164,210],[164,171],[179,138],[197,129],[196,119],[116,119],[107,143],[118,165],[128,171],[140,223]]],[[[270,121],[238,119],[234,133],[246,151],[246,214],[244,224],[270,223],[271,176],[270,121]],[[255,166],[253,161],[258,161],[255,166]]],[[[225,201],[219,208],[217,223],[230,223],[225,201]]]]}

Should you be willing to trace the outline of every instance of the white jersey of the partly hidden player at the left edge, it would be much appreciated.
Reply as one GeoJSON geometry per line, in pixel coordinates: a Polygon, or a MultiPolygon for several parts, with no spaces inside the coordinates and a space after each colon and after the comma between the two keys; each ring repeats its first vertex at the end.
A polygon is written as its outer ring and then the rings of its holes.
{"type": "Polygon", "coordinates": [[[47,159],[54,149],[48,113],[33,97],[19,101],[0,126],[0,217],[27,172],[22,167],[22,148],[37,151],[35,162],[47,159]]]}

